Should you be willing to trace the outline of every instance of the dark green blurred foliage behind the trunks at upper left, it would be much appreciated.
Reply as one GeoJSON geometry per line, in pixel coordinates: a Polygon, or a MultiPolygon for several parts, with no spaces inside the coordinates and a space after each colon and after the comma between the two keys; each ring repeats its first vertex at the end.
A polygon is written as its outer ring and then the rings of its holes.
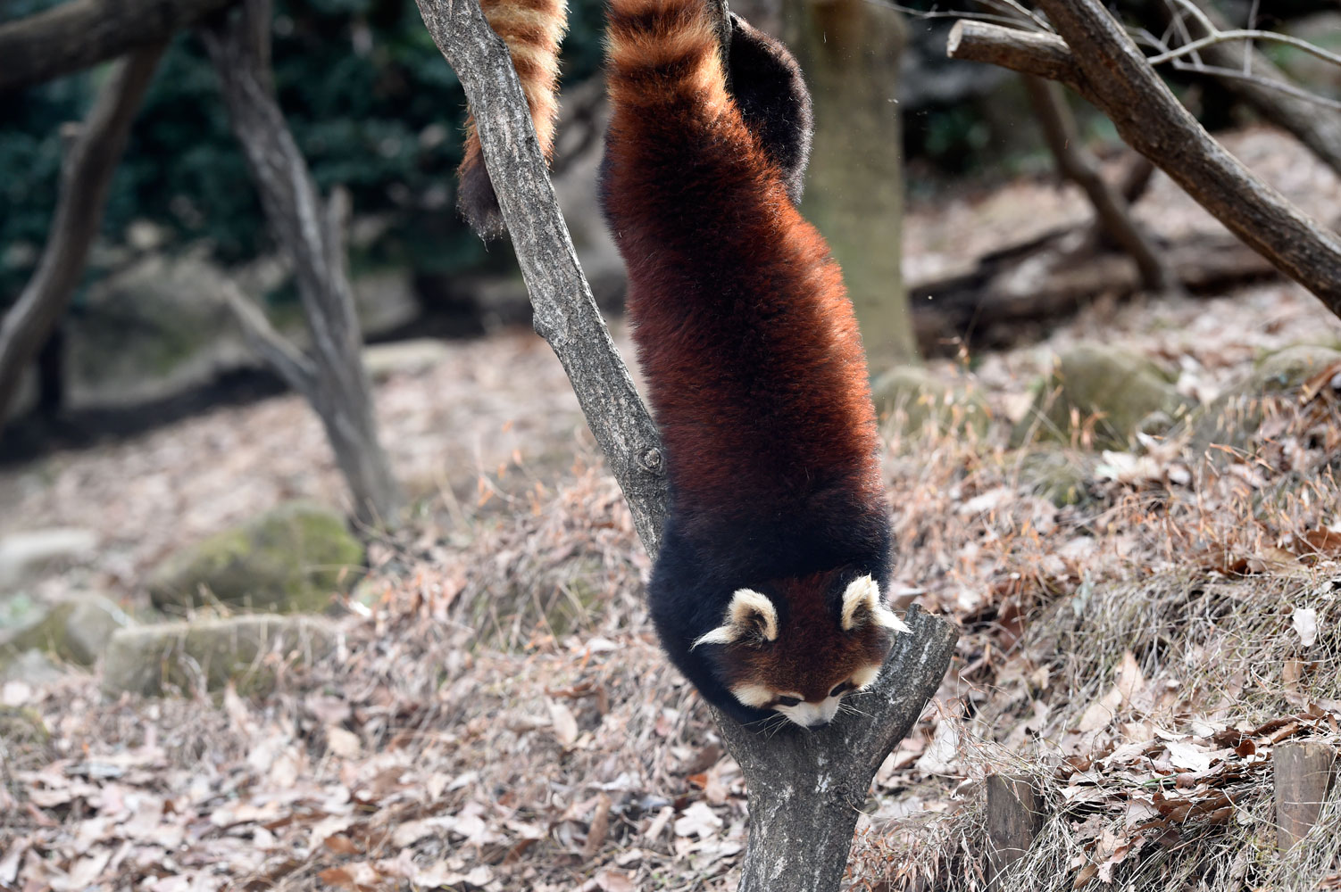
{"type": "MultiPolygon", "coordinates": [[[[0,19],[55,5],[12,0],[0,19]]],[[[571,0],[566,83],[601,63],[599,0],[571,0]]],[[[465,96],[433,46],[414,0],[279,0],[275,82],[288,126],[323,192],[345,185],[378,236],[355,268],[408,265],[449,273],[492,260],[452,212],[465,96]]],[[[0,305],[32,272],[55,205],[60,126],[83,118],[106,68],[0,95],[0,305]]],[[[117,170],[103,233],[145,220],[164,248],[205,240],[220,263],[268,245],[260,204],[196,38],[168,50],[117,170]]],[[[493,252],[500,257],[506,252],[493,252]]],[[[94,257],[97,261],[97,257],[94,257]]],[[[97,263],[90,276],[97,276],[97,263]]]]}

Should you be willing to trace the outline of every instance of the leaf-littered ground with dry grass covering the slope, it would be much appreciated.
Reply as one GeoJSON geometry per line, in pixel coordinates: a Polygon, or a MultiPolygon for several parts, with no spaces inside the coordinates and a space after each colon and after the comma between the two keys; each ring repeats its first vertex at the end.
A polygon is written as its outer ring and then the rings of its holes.
{"type": "MultiPolygon", "coordinates": [[[[936,233],[978,230],[975,208],[1014,205],[1002,233],[1082,209],[1046,183],[1007,193],[919,210],[923,263],[936,233]]],[[[963,638],[877,775],[852,884],[986,888],[982,786],[1008,771],[1047,804],[1030,888],[1341,885],[1336,797],[1286,856],[1270,810],[1274,747],[1341,739],[1341,382],[1274,400],[1242,450],[1175,430],[1096,454],[1080,433],[1049,447],[1080,469],[1058,506],[1006,442],[1082,342],[1163,363],[1206,404],[1281,348],[1341,343],[1341,320],[1266,281],[1097,300],[1039,343],[932,363],[994,421],[982,438],[888,421],[894,585],[963,638]]],[[[453,344],[377,406],[417,510],[374,537],[330,659],[260,699],[107,699],[95,671],[0,688],[0,722],[36,719],[0,733],[0,888],[735,887],[739,769],[657,651],[646,557],[547,347],[453,344]]],[[[95,554],[36,596],[138,608],[174,546],[341,493],[318,423],[283,396],[4,469],[0,534],[94,530],[95,554]]]]}

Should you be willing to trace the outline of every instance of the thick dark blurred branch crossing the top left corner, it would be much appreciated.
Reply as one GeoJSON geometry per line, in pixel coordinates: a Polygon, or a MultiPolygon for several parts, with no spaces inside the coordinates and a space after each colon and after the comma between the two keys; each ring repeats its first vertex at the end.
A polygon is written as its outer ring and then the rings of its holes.
{"type": "Polygon", "coordinates": [[[0,92],[82,71],[172,38],[235,0],[68,0],[0,24],[0,92]]]}

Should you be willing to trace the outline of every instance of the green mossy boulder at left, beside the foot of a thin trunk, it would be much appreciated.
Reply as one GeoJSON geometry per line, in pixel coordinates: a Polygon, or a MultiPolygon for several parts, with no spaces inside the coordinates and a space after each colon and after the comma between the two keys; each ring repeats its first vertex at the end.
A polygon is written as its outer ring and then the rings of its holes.
{"type": "Polygon", "coordinates": [[[255,611],[319,612],[361,577],[363,546],[333,512],[278,508],[164,561],[149,596],[166,612],[220,601],[255,611]]]}

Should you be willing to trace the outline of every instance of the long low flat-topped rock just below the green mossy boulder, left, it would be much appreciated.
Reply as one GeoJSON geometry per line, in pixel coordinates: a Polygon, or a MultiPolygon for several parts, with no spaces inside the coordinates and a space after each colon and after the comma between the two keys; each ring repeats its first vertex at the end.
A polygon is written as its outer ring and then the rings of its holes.
{"type": "Polygon", "coordinates": [[[102,690],[156,696],[233,682],[239,691],[264,695],[274,690],[280,666],[310,664],[327,655],[337,638],[325,617],[274,613],[123,628],[107,646],[102,690]],[[271,655],[279,655],[280,664],[271,655]]]}

